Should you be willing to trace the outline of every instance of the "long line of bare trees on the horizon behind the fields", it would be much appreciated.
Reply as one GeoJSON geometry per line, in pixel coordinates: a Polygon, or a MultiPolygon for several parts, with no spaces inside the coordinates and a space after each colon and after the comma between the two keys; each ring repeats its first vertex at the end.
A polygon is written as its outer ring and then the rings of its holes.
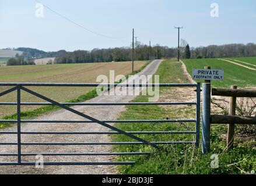
{"type": "MultiPolygon", "coordinates": [[[[232,58],[256,56],[256,45],[227,44],[209,45],[208,47],[190,48],[187,42],[181,42],[181,58],[232,58]]],[[[137,43],[135,60],[149,60],[161,58],[176,58],[177,48],[163,47],[137,43]]],[[[131,47],[93,49],[92,51],[63,52],[55,58],[55,63],[94,63],[94,62],[124,62],[132,60],[131,47]]]]}

